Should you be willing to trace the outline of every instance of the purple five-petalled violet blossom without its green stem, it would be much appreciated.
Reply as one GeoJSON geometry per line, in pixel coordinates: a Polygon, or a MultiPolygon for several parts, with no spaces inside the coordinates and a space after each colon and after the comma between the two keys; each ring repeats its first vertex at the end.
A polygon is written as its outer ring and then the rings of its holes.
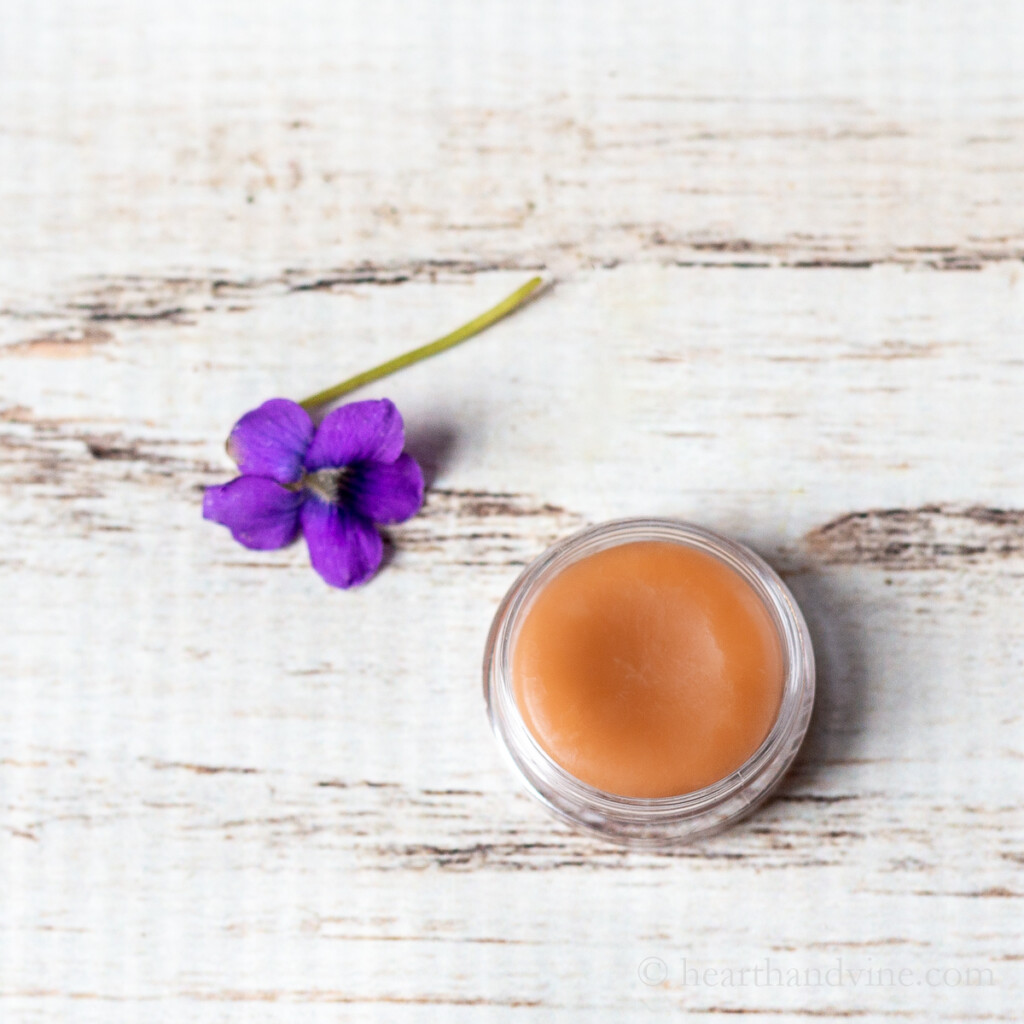
{"type": "Polygon", "coordinates": [[[342,406],[319,427],[297,402],[271,398],[231,429],[227,452],[242,475],[207,487],[203,517],[260,551],[301,529],[313,568],[332,587],[357,586],[383,557],[375,524],[401,522],[423,504],[423,473],[404,444],[387,398],[342,406]]]}

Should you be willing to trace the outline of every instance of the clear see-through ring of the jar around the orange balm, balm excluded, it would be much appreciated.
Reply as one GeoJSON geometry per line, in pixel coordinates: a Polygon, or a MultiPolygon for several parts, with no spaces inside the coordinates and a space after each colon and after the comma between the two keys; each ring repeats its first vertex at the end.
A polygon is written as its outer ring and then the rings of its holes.
{"type": "Polygon", "coordinates": [[[749,814],[793,763],[814,703],[814,652],[804,616],[777,573],[750,549],[709,529],[671,519],[622,519],[590,527],[549,548],[512,585],[495,615],[483,663],[492,728],[526,787],[551,811],[604,839],[630,846],[683,843],[749,814]],[[522,624],[544,588],[573,562],[620,545],[668,542],[732,569],[762,603],[782,654],[774,724],[734,771],[702,788],[669,797],[626,797],[577,778],[544,750],[516,699],[513,653],[522,624]]]}

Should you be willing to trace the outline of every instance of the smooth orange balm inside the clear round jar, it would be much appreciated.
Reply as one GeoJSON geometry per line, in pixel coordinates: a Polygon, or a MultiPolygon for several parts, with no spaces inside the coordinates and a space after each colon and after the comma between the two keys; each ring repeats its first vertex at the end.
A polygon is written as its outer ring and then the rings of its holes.
{"type": "Polygon", "coordinates": [[[607,548],[552,579],[512,650],[526,727],[606,793],[671,797],[739,768],[778,715],[784,666],[763,600],[714,555],[607,548]]]}

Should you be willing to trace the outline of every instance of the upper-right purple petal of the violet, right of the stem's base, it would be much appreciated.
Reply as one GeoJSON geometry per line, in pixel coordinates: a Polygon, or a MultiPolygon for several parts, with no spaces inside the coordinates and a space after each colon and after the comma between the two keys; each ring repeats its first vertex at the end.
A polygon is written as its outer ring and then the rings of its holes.
{"type": "Polygon", "coordinates": [[[401,414],[388,398],[353,401],[324,417],[306,453],[306,469],[338,469],[356,462],[394,462],[406,444],[401,414]]]}

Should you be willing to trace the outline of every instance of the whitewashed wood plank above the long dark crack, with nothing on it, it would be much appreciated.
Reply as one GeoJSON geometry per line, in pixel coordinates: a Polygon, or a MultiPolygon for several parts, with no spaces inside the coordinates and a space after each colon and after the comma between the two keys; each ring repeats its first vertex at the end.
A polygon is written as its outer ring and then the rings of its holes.
{"type": "Polygon", "coordinates": [[[1012,2],[10,6],[0,267],[22,314],[102,311],[126,278],[167,313],[191,287],[447,261],[1024,254],[1012,2]]]}

